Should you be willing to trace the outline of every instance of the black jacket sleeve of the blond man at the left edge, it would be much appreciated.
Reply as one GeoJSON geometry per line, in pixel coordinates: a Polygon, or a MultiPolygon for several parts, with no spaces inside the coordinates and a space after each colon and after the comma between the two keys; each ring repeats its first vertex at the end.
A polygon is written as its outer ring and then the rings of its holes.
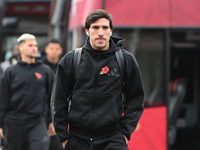
{"type": "Polygon", "coordinates": [[[10,81],[9,71],[6,70],[0,81],[0,128],[3,128],[5,115],[8,111],[10,100],[10,81]]]}

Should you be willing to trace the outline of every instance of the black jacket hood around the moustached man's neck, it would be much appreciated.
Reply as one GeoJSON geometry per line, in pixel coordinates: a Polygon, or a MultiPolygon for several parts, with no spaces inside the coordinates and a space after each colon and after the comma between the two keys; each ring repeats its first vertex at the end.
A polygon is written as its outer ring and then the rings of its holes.
{"type": "Polygon", "coordinates": [[[85,45],[83,46],[86,50],[90,51],[93,54],[101,53],[101,55],[110,55],[113,54],[115,51],[119,50],[123,43],[124,39],[118,38],[118,37],[110,37],[110,47],[107,50],[95,50],[90,45],[90,38],[88,37],[86,39],[85,45]]]}

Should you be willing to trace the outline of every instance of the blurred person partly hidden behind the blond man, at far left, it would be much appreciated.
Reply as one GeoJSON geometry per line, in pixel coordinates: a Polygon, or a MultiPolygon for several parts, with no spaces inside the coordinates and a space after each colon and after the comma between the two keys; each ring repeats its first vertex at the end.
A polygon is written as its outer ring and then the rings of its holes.
{"type": "Polygon", "coordinates": [[[8,60],[5,60],[1,63],[1,70],[4,72],[8,67],[17,63],[17,58],[20,55],[20,51],[18,48],[18,43],[14,43],[12,46],[12,55],[8,60]]]}

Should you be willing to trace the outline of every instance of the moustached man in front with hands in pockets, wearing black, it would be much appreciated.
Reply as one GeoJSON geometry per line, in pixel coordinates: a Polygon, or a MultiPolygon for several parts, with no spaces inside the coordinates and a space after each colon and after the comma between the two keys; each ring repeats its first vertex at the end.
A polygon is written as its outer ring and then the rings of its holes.
{"type": "Polygon", "coordinates": [[[111,36],[112,17],[105,10],[89,13],[85,31],[88,39],[75,71],[74,50],[58,64],[52,91],[56,134],[66,150],[126,150],[143,112],[139,66],[135,57],[122,49],[123,79],[115,52],[124,40],[111,36]]]}

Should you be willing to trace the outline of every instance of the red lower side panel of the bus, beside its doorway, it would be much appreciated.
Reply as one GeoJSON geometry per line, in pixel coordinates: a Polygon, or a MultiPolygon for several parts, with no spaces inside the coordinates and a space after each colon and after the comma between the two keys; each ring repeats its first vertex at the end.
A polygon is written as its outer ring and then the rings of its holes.
{"type": "Polygon", "coordinates": [[[166,106],[144,109],[128,147],[129,150],[167,150],[166,106]]]}

